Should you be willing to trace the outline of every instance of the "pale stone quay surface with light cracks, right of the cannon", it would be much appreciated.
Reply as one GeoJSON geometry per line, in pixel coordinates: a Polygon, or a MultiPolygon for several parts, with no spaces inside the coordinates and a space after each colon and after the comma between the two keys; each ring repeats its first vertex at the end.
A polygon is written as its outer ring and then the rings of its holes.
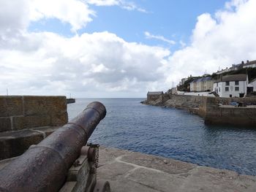
{"type": "Polygon", "coordinates": [[[97,180],[111,192],[256,191],[256,177],[170,158],[99,148],[97,180]]]}

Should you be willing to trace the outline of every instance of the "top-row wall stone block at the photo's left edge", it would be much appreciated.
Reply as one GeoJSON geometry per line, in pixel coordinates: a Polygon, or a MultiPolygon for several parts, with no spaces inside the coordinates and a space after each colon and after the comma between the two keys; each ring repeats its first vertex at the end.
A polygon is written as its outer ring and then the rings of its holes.
{"type": "Polygon", "coordinates": [[[23,115],[22,96],[0,96],[0,117],[23,115]]]}

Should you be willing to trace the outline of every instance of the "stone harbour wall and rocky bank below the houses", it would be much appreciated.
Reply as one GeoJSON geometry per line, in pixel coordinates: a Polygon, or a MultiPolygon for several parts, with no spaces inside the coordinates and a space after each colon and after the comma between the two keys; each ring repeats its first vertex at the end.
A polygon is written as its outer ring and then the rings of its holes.
{"type": "Polygon", "coordinates": [[[255,98],[221,98],[165,93],[158,99],[146,100],[143,104],[189,110],[204,118],[206,124],[252,127],[256,125],[255,98]],[[246,107],[230,106],[231,102],[242,103],[246,107]]]}

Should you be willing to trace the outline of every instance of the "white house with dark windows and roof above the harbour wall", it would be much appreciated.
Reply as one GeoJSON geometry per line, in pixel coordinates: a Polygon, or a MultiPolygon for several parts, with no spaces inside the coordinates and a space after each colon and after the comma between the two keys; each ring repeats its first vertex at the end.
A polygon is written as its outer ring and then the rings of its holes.
{"type": "Polygon", "coordinates": [[[214,82],[213,90],[220,97],[244,97],[247,91],[246,74],[225,75],[214,82]]]}

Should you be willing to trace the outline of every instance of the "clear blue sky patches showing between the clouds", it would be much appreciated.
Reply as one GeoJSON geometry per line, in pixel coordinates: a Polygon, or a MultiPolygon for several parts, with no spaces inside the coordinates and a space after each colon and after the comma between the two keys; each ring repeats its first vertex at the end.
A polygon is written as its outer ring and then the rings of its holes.
{"type": "MultiPolygon", "coordinates": [[[[197,22],[197,16],[205,12],[214,14],[225,5],[223,0],[142,0],[134,2],[146,12],[129,11],[118,6],[99,7],[91,5],[91,8],[96,12],[96,15],[92,17],[93,21],[76,32],[78,34],[91,34],[109,31],[127,42],[141,42],[146,45],[159,45],[169,47],[170,50],[176,50],[180,47],[179,44],[170,46],[161,40],[147,39],[144,32],[148,31],[151,34],[163,36],[176,42],[189,43],[189,37],[197,22]]],[[[69,23],[61,22],[55,18],[33,22],[29,26],[29,31],[51,31],[65,37],[74,35],[70,31],[69,23]]]]}

